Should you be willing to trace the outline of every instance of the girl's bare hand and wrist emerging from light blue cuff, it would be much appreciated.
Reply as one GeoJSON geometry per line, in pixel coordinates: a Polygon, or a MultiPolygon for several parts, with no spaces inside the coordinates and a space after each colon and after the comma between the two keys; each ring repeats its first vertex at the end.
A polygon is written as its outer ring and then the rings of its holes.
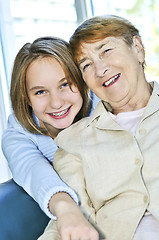
{"type": "Polygon", "coordinates": [[[97,230],[67,193],[56,193],[50,200],[49,209],[57,217],[57,229],[62,240],[99,239],[97,230]]]}

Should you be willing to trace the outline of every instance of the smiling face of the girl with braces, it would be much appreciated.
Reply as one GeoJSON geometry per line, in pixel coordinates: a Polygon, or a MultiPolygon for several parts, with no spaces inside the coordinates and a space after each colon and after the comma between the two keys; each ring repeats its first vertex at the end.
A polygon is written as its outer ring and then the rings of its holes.
{"type": "Polygon", "coordinates": [[[61,65],[51,57],[30,64],[26,87],[34,114],[52,135],[70,126],[83,104],[77,87],[70,89],[61,65]]]}

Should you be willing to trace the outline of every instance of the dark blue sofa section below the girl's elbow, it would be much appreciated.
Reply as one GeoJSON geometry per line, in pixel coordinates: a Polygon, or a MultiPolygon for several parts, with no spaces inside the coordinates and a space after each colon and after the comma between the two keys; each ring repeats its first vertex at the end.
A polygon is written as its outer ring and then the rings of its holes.
{"type": "Polygon", "coordinates": [[[0,184],[0,240],[36,240],[49,220],[13,179],[0,184]]]}

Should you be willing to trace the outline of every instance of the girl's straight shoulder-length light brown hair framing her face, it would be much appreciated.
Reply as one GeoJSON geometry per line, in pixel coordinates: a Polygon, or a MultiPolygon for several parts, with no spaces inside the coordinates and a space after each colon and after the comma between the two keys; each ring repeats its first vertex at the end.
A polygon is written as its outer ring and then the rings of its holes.
{"type": "Polygon", "coordinates": [[[38,38],[33,43],[26,43],[18,52],[13,65],[10,88],[14,114],[20,124],[31,133],[46,134],[46,129],[37,126],[33,119],[26,88],[26,72],[33,61],[47,57],[55,58],[61,64],[70,88],[73,83],[83,98],[83,106],[75,121],[87,116],[91,109],[88,87],[73,61],[69,44],[56,37],[38,38]]]}

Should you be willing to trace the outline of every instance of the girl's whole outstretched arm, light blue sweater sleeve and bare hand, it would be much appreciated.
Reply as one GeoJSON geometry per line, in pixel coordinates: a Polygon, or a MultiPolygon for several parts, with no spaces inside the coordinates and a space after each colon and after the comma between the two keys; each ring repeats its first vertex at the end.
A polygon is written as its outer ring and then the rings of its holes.
{"type": "Polygon", "coordinates": [[[50,137],[29,133],[11,115],[2,137],[2,149],[14,180],[39,203],[50,218],[56,215],[62,240],[66,240],[70,233],[78,231],[83,234],[85,229],[87,232],[84,239],[87,239],[87,233],[97,234],[74,202],[78,202],[74,191],[52,167],[51,161],[57,147],[50,137]]]}

